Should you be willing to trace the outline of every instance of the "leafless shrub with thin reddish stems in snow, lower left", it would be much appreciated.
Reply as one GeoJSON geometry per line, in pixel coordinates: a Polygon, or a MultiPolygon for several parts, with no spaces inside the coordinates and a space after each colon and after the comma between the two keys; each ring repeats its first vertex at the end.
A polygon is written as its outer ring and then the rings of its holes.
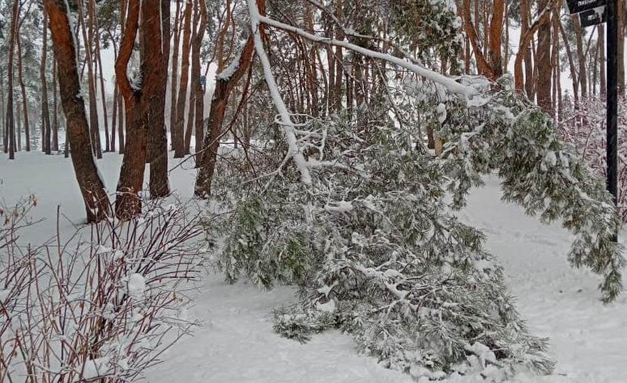
{"type": "Polygon", "coordinates": [[[150,204],[66,242],[4,241],[24,219],[0,229],[0,382],[133,381],[194,325],[178,286],[199,271],[201,229],[183,207],[150,204]]]}

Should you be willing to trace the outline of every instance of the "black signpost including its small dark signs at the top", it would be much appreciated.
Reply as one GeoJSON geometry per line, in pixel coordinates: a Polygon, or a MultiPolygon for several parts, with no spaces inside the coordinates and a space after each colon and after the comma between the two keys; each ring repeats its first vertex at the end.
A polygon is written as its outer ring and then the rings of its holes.
{"type": "MultiPolygon", "coordinates": [[[[618,202],[618,19],[617,0],[566,0],[571,15],[579,13],[583,27],[607,23],[607,191],[612,194],[614,206],[618,202]]],[[[602,38],[599,36],[599,38],[602,38]]],[[[614,241],[618,234],[614,234],[614,241]]]]}

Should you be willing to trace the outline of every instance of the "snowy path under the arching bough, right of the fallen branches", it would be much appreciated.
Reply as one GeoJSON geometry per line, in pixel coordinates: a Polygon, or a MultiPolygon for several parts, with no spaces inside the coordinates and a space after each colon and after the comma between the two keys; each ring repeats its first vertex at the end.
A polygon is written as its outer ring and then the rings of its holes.
{"type": "MultiPolygon", "coordinates": [[[[525,382],[627,382],[627,297],[598,300],[598,278],[566,261],[570,235],[498,202],[498,180],[474,190],[461,217],[483,229],[533,334],[548,336],[555,376],[525,382]]],[[[621,241],[625,243],[624,231],[621,241]]]]}

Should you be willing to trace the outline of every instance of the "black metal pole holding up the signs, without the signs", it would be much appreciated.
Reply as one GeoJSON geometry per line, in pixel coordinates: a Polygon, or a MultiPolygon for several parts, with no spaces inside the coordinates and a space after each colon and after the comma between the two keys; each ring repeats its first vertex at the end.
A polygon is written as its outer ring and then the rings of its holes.
{"type": "MultiPolygon", "coordinates": [[[[618,15],[617,0],[607,0],[607,191],[612,194],[614,206],[618,202],[618,15]]],[[[618,235],[614,236],[614,240],[618,235]]]]}

